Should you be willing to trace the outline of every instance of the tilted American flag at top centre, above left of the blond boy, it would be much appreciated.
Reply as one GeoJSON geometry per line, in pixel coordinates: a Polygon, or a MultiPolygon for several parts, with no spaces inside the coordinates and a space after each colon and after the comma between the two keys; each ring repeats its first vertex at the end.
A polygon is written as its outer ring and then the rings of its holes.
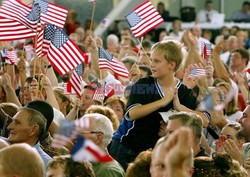
{"type": "Polygon", "coordinates": [[[164,22],[153,4],[146,0],[125,16],[136,38],[144,36],[148,31],[164,22]]]}

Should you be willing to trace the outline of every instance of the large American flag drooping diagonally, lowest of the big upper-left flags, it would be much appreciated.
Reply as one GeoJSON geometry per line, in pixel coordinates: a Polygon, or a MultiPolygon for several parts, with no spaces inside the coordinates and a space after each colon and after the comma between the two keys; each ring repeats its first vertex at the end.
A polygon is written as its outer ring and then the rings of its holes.
{"type": "Polygon", "coordinates": [[[85,57],[64,31],[51,24],[44,26],[43,52],[60,75],[73,70],[85,57]]]}

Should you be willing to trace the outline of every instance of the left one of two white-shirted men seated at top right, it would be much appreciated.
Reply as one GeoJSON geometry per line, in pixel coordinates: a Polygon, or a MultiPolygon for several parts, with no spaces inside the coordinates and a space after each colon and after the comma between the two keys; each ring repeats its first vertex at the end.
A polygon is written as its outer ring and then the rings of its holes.
{"type": "Polygon", "coordinates": [[[218,14],[218,11],[213,10],[213,2],[208,0],[205,3],[205,9],[198,13],[197,19],[200,23],[210,23],[214,14],[218,14]]]}

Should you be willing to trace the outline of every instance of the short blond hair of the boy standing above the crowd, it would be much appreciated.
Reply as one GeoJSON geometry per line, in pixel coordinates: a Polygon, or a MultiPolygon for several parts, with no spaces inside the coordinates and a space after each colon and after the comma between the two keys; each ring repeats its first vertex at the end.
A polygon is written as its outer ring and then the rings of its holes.
{"type": "Polygon", "coordinates": [[[175,71],[179,69],[183,59],[180,45],[173,41],[162,41],[153,45],[152,51],[163,53],[165,60],[174,61],[176,63],[175,71]]]}

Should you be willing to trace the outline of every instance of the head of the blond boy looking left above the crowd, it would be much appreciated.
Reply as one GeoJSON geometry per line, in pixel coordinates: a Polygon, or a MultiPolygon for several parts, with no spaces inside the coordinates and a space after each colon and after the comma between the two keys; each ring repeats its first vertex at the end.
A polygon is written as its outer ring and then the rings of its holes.
{"type": "Polygon", "coordinates": [[[155,78],[165,78],[176,72],[182,62],[181,46],[173,41],[158,42],[151,50],[152,75],[155,78]]]}

